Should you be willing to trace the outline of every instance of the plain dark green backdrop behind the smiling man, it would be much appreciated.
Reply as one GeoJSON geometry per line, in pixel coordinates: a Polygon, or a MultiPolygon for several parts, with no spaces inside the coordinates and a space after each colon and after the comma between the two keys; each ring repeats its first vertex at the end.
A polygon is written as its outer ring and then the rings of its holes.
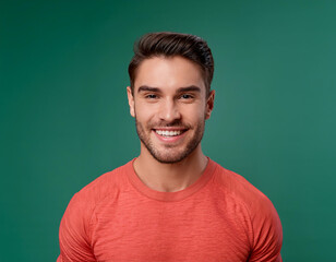
{"type": "Polygon", "coordinates": [[[139,154],[136,38],[202,36],[203,148],[274,203],[284,261],[336,261],[336,1],[1,1],[0,261],[55,261],[71,196],[139,154]]]}

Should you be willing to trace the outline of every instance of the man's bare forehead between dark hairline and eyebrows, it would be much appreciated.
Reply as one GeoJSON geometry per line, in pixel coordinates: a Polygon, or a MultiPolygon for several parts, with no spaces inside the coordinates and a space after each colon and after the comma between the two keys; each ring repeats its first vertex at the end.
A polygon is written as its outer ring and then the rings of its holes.
{"type": "Polygon", "coordinates": [[[182,57],[153,57],[142,61],[136,70],[135,91],[142,85],[170,90],[195,85],[205,92],[200,67],[182,57]]]}

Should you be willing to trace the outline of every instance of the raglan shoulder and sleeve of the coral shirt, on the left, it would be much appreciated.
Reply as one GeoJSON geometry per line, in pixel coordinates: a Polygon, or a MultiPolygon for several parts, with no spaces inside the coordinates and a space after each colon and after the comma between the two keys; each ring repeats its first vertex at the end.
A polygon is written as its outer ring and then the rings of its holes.
{"type": "Polygon", "coordinates": [[[129,165],[132,165],[132,162],[101,175],[73,195],[59,230],[60,248],[64,258],[73,255],[77,258],[76,261],[92,261],[88,258],[92,258],[89,243],[94,211],[107,196],[110,196],[109,200],[117,199],[119,192],[128,187],[125,169],[129,165]]]}

